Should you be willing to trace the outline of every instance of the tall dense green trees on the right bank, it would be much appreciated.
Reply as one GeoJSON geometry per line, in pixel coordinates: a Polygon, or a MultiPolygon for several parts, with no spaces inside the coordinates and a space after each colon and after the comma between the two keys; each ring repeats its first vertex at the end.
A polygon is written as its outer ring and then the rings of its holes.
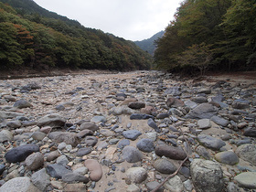
{"type": "Polygon", "coordinates": [[[157,69],[255,70],[256,1],[185,0],[156,44],[157,69]]]}

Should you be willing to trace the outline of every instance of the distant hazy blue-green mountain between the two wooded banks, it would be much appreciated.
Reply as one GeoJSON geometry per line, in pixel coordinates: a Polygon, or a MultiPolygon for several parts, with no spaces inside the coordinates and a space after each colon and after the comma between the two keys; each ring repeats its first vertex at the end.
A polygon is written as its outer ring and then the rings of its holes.
{"type": "Polygon", "coordinates": [[[160,31],[156,33],[153,37],[144,39],[142,41],[134,41],[134,43],[153,56],[155,51],[155,40],[157,40],[160,37],[163,37],[164,34],[165,31],[160,31]]]}

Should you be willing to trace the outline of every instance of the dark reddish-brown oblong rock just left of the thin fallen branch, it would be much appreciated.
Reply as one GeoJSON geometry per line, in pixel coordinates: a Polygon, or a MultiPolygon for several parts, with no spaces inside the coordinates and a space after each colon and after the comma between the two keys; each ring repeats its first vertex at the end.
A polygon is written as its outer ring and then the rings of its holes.
{"type": "Polygon", "coordinates": [[[169,157],[170,159],[175,159],[175,160],[183,160],[187,157],[187,154],[185,151],[183,151],[181,148],[171,146],[171,145],[156,146],[155,154],[159,156],[165,155],[166,157],[169,157]]]}

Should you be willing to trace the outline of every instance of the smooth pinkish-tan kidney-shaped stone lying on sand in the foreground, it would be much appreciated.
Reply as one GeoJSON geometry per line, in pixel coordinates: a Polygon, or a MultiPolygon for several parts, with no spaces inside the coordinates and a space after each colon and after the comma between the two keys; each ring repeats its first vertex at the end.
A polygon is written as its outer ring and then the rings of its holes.
{"type": "Polygon", "coordinates": [[[101,165],[94,159],[88,159],[84,162],[84,165],[90,172],[91,181],[99,181],[103,175],[101,165]]]}

